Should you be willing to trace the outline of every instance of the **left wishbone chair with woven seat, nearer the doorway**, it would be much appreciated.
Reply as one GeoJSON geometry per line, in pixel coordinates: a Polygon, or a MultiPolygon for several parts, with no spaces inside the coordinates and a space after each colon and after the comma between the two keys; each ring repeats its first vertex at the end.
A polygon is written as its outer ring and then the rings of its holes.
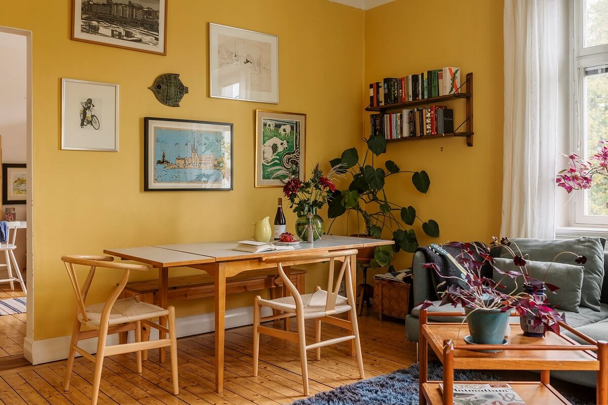
{"type": "Polygon", "coordinates": [[[91,395],[91,405],[97,404],[99,395],[99,387],[102,380],[103,359],[105,356],[119,355],[123,353],[136,353],[137,357],[137,373],[142,372],[142,350],[156,349],[160,347],[170,346],[171,352],[171,380],[173,382],[173,393],[178,395],[178,344],[175,327],[175,309],[170,306],[166,310],[156,305],[140,302],[139,297],[118,299],[126,282],[129,281],[131,270],[147,271],[149,267],[137,264],[114,263],[114,257],[111,256],[81,256],[67,255],[62,256],[67,274],[72,282],[74,293],[78,301],[77,316],[74,321],[74,330],[72,331],[72,340],[70,349],[67,355],[66,378],[63,384],[63,389],[68,390],[70,387],[70,377],[72,375],[72,367],[74,367],[74,358],[76,353],[80,353],[86,359],[94,362],[95,372],[93,376],[93,392],[91,395]],[[80,287],[74,270],[74,265],[88,266],[89,273],[84,284],[80,287]],[[124,274],[122,281],[114,288],[106,302],[94,305],[85,305],[86,296],[91,287],[91,282],[95,276],[97,268],[123,270],[124,274]],[[162,327],[151,319],[159,316],[167,316],[169,320],[168,328],[162,327]],[[158,329],[159,331],[168,333],[168,339],[159,339],[155,341],[142,341],[142,325],[147,325],[158,329]],[[92,330],[81,331],[81,327],[91,328],[92,330]],[[117,344],[106,346],[108,335],[120,332],[128,332],[134,330],[135,342],[126,344],[117,344]],[[78,341],[97,337],[97,353],[95,356],[86,352],[86,350],[78,347],[78,341]]]}

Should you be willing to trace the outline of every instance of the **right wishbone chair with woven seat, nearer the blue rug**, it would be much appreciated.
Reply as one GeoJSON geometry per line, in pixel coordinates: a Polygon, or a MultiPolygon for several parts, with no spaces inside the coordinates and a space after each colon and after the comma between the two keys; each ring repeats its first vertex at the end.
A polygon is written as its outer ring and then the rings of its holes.
{"type": "Polygon", "coordinates": [[[275,338],[285,339],[299,344],[304,395],[308,395],[308,359],[306,359],[306,350],[315,349],[316,359],[320,360],[321,347],[354,339],[355,355],[357,356],[359,364],[359,376],[365,378],[350,268],[350,256],[356,254],[356,249],[350,249],[329,253],[289,254],[285,256],[266,257],[263,259],[266,263],[277,264],[278,274],[280,274],[283,279],[283,284],[287,286],[291,296],[276,299],[262,299],[260,296],[257,296],[254,299],[254,376],[258,375],[260,333],[264,333],[264,335],[274,336],[275,338]],[[340,258],[342,259],[342,267],[340,267],[340,273],[337,276],[336,282],[334,282],[334,263],[336,259],[340,258]],[[283,266],[302,262],[302,260],[311,262],[323,259],[328,259],[330,261],[330,274],[327,282],[327,290],[322,290],[321,287],[317,286],[314,293],[300,295],[298,290],[291,283],[289,277],[285,274],[283,266]],[[338,290],[345,275],[347,296],[343,297],[338,294],[338,290]],[[270,307],[274,310],[281,311],[281,313],[260,318],[261,307],[270,307]],[[348,320],[331,316],[340,313],[348,313],[348,320]],[[260,325],[260,322],[283,318],[289,319],[291,316],[295,316],[297,319],[297,333],[260,325]],[[316,341],[309,345],[306,345],[305,319],[314,319],[316,341]],[[340,338],[321,341],[322,321],[345,328],[350,331],[350,334],[340,338]]]}

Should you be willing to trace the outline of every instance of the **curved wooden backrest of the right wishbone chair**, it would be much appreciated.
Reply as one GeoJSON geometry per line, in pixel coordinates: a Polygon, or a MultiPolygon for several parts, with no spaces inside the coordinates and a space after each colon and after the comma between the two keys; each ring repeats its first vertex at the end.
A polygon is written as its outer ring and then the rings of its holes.
{"type": "Polygon", "coordinates": [[[340,284],[342,284],[342,279],[346,277],[346,287],[352,288],[352,277],[351,277],[351,269],[350,269],[350,256],[356,255],[358,251],[356,249],[348,249],[348,250],[336,250],[325,253],[306,253],[306,254],[289,254],[283,256],[273,256],[264,258],[264,262],[266,263],[276,263],[278,268],[278,274],[280,274],[283,279],[283,283],[289,289],[292,296],[295,300],[295,307],[298,312],[303,311],[303,302],[300,293],[297,288],[292,284],[289,277],[285,274],[285,270],[283,270],[283,266],[290,266],[296,262],[305,261],[314,261],[321,259],[329,259],[330,261],[330,271],[328,274],[327,280],[327,299],[325,302],[325,312],[326,315],[331,315],[336,311],[336,299],[338,295],[338,291],[340,290],[340,284]],[[340,267],[340,272],[337,277],[335,277],[335,262],[336,259],[342,259],[342,266],[340,267]]]}

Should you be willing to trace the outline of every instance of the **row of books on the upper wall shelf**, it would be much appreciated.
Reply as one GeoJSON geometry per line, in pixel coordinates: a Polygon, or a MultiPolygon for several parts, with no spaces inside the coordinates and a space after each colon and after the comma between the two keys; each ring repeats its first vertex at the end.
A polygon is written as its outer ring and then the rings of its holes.
{"type": "Polygon", "coordinates": [[[370,84],[370,106],[387,106],[406,101],[460,93],[460,68],[444,67],[402,78],[387,77],[370,84]]]}

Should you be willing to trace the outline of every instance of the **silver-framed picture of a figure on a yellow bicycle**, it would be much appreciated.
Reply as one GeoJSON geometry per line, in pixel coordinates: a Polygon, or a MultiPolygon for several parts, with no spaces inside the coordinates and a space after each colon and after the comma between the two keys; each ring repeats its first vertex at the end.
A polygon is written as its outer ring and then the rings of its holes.
{"type": "Polygon", "coordinates": [[[118,152],[118,84],[61,79],[61,149],[118,152]]]}

